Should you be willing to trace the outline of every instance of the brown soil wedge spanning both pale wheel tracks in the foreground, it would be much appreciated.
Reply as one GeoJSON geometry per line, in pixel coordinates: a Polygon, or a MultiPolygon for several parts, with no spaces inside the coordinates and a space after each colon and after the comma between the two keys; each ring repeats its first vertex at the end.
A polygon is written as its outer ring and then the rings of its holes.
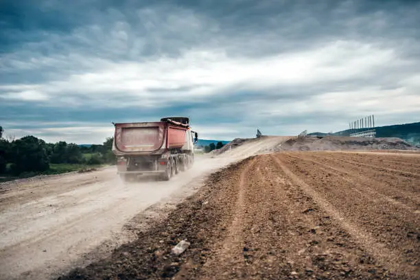
{"type": "Polygon", "coordinates": [[[237,244],[235,250],[224,251],[227,264],[216,253],[200,279],[391,277],[310,196],[285,180],[271,157],[258,157],[249,176],[244,203],[252,208],[237,224],[242,231],[236,231],[243,252],[237,244]],[[367,259],[369,264],[363,264],[367,259]]]}

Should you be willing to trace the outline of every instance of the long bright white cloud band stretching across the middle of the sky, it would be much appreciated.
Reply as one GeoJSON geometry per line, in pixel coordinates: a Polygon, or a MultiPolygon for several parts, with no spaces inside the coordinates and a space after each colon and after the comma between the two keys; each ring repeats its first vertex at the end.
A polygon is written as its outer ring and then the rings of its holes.
{"type": "MultiPolygon", "coordinates": [[[[182,98],[202,99],[240,87],[248,90],[274,89],[364,78],[397,60],[390,49],[377,49],[357,42],[338,41],[320,49],[266,58],[230,58],[222,51],[187,52],[180,58],[159,58],[145,62],[101,63],[87,73],[66,79],[29,85],[11,85],[14,99],[47,100],[54,106],[89,103],[93,106],[165,106],[182,98]],[[177,91],[180,89],[179,91],[177,91]],[[109,103],[107,97],[130,97],[129,104],[109,103]]],[[[281,93],[278,93],[281,95],[281,93]]],[[[3,96],[4,97],[4,96],[3,96]]],[[[5,97],[12,98],[7,94],[5,97]]]]}

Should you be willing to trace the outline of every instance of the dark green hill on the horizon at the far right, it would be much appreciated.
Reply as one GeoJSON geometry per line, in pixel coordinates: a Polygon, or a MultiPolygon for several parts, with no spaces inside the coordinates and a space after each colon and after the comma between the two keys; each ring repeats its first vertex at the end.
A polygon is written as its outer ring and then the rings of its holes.
{"type": "MultiPolygon", "coordinates": [[[[363,131],[366,129],[359,129],[359,131],[363,131]]],[[[415,122],[412,124],[395,124],[392,126],[378,126],[375,128],[376,130],[376,137],[397,137],[401,138],[412,145],[420,145],[420,121],[415,122]]],[[[324,132],[312,132],[308,133],[308,135],[319,135],[325,136],[328,133],[324,132]]],[[[350,130],[342,130],[338,132],[334,132],[331,135],[334,136],[349,136],[350,130]]]]}

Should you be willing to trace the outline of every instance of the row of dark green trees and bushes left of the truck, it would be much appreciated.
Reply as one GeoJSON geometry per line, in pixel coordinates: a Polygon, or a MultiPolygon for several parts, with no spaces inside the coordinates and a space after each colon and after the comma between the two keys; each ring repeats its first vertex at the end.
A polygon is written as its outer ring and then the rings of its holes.
{"type": "Polygon", "coordinates": [[[50,169],[50,163],[102,165],[115,163],[111,151],[113,137],[102,145],[89,147],[59,141],[46,143],[34,136],[20,139],[3,139],[0,126],[0,174],[20,176],[25,172],[42,173],[50,169]]]}

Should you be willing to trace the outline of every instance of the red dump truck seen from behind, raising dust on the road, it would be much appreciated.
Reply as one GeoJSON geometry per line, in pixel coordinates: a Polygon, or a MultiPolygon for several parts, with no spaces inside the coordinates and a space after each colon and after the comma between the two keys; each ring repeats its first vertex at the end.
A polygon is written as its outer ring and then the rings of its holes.
{"type": "Polygon", "coordinates": [[[165,117],[156,122],[114,124],[113,153],[123,180],[156,175],[170,180],[194,163],[197,132],[188,117],[165,117]]]}

